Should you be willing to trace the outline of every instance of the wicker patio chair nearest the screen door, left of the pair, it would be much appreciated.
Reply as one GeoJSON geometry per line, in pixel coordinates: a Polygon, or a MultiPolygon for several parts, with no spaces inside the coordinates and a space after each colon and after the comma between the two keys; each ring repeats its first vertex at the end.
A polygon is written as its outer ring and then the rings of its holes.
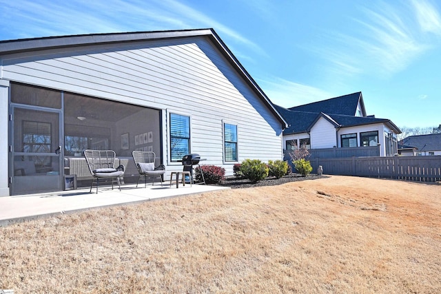
{"type": "Polygon", "coordinates": [[[84,151],[85,160],[88,162],[90,174],[93,176],[92,185],[90,185],[90,193],[96,180],[96,193],[98,193],[99,180],[104,178],[112,179],[113,183],[118,182],[119,191],[121,191],[121,176],[124,174],[124,166],[120,165],[115,168],[115,152],[113,150],[90,150],[84,151]]]}

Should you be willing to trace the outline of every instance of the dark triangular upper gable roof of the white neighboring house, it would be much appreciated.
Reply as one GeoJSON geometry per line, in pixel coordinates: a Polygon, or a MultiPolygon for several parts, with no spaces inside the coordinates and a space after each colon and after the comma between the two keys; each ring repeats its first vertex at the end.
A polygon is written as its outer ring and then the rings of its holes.
{"type": "Polygon", "coordinates": [[[363,102],[363,96],[361,92],[347,94],[305,105],[290,107],[288,109],[298,112],[323,112],[325,114],[342,114],[347,116],[355,116],[358,103],[360,103],[362,107],[362,116],[366,116],[365,103],[363,102]]]}

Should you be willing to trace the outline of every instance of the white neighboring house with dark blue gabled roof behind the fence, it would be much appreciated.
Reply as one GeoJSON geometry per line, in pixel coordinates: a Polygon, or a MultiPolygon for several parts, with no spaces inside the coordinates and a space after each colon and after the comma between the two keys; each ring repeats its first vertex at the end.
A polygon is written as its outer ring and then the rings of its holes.
{"type": "Polygon", "coordinates": [[[380,146],[380,156],[398,152],[401,131],[389,119],[367,116],[361,92],[289,109],[276,106],[289,127],[283,131],[285,150],[380,146]]]}

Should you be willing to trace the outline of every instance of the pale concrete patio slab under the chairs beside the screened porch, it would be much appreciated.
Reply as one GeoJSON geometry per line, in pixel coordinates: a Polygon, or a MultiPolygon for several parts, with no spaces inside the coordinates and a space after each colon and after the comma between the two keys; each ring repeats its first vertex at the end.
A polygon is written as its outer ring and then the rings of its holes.
{"type": "Polygon", "coordinates": [[[114,205],[133,204],[170,198],[186,196],[195,193],[203,193],[229,189],[225,187],[209,185],[189,184],[176,188],[176,185],[123,185],[121,191],[116,187],[99,187],[98,194],[89,193],[90,188],[61,191],[56,193],[39,193],[20,196],[0,197],[0,227],[14,222],[23,222],[35,218],[54,216],[60,213],[72,213],[97,207],[110,207],[114,205]]]}

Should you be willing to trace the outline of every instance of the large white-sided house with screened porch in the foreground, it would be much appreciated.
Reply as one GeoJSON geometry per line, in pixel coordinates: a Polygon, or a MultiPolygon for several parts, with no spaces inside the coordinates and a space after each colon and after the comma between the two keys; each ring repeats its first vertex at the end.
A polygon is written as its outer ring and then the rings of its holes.
{"type": "Polygon", "coordinates": [[[227,175],[283,158],[287,122],[212,29],[0,41],[0,72],[0,196],[86,179],[85,149],[116,151],[125,182],[133,150],[166,178],[190,153],[227,175]]]}

